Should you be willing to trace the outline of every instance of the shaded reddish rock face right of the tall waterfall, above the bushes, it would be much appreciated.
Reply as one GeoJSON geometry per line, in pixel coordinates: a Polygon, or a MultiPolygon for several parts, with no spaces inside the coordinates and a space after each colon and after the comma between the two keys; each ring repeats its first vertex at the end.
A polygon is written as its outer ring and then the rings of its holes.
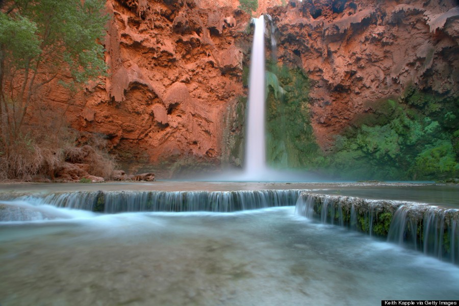
{"type": "Polygon", "coordinates": [[[322,148],[356,114],[414,85],[457,91],[459,7],[454,1],[303,1],[268,12],[279,62],[311,79],[314,133],[322,148]]]}

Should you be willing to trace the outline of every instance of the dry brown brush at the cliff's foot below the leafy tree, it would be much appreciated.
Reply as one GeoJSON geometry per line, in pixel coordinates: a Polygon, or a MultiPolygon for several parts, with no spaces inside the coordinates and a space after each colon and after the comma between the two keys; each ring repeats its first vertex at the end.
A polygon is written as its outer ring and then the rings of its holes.
{"type": "Polygon", "coordinates": [[[108,154],[107,139],[70,129],[65,112],[41,105],[14,137],[7,118],[0,117],[0,180],[54,179],[64,161],[88,164],[90,174],[110,177],[115,162],[108,154]]]}

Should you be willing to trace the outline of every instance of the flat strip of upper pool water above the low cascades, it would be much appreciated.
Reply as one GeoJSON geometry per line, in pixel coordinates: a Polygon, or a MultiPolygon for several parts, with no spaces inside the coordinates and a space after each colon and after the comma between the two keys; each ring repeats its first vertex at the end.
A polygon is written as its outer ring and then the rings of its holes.
{"type": "MultiPolygon", "coordinates": [[[[459,208],[459,185],[420,183],[267,183],[267,182],[119,182],[103,184],[0,184],[0,199],[6,194],[71,191],[239,191],[301,189],[314,193],[358,196],[371,199],[415,201],[459,208]],[[2,195],[3,194],[3,195],[2,195]]],[[[291,205],[295,205],[292,203],[291,205]]]]}

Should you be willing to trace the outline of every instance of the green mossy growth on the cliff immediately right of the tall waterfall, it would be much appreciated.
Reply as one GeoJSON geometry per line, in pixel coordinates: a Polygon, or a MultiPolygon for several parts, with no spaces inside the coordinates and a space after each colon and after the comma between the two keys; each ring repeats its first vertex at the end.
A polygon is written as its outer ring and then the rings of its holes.
{"type": "Polygon", "coordinates": [[[299,68],[266,72],[267,160],[278,167],[311,168],[318,146],[308,108],[309,79],[299,68]]]}

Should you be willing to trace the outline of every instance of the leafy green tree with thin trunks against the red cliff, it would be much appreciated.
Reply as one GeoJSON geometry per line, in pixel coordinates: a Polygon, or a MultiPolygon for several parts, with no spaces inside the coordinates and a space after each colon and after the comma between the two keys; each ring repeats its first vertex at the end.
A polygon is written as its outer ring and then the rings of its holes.
{"type": "Polygon", "coordinates": [[[44,85],[59,81],[75,93],[105,74],[104,8],[103,0],[0,1],[0,157],[25,134],[44,85]]]}

